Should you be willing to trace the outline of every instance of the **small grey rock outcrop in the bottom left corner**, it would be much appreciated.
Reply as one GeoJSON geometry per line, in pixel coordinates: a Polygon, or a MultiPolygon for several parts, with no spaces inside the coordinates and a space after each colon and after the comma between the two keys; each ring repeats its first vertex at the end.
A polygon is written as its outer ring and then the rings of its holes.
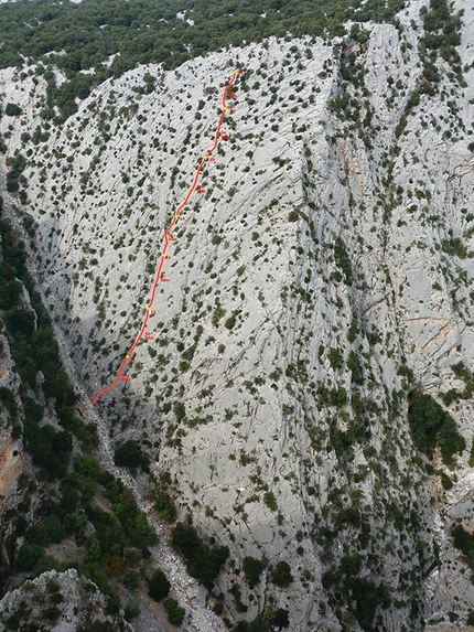
{"type": "Polygon", "coordinates": [[[106,614],[104,596],[73,568],[43,572],[9,592],[0,601],[0,621],[3,630],[132,630],[120,615],[106,614]]]}

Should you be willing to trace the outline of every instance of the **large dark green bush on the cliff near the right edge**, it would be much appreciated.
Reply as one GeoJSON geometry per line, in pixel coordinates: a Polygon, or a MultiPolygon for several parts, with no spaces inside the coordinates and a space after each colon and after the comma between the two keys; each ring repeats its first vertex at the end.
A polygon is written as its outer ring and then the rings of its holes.
{"type": "Polygon", "coordinates": [[[465,439],[457,433],[454,419],[430,396],[413,392],[410,395],[408,421],[413,442],[430,459],[439,443],[443,462],[453,463],[453,456],[465,449],[465,439]]]}

